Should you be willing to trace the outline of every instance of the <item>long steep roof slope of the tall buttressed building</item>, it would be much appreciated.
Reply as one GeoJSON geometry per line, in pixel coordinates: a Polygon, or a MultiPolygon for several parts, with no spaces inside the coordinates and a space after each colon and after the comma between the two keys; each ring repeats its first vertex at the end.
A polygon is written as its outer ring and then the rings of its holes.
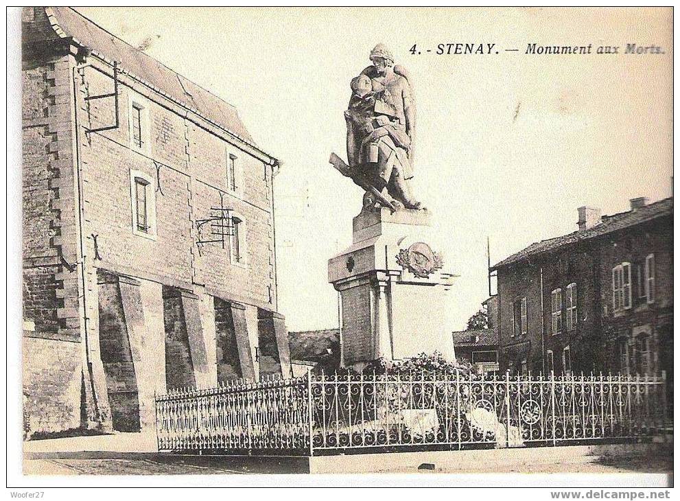
{"type": "Polygon", "coordinates": [[[45,12],[55,32],[62,38],[72,37],[76,43],[90,49],[95,55],[118,62],[125,73],[131,73],[151,84],[183,106],[197,110],[202,117],[257,148],[236,108],[231,104],[107,32],[72,8],[49,7],[45,8],[45,12]]]}

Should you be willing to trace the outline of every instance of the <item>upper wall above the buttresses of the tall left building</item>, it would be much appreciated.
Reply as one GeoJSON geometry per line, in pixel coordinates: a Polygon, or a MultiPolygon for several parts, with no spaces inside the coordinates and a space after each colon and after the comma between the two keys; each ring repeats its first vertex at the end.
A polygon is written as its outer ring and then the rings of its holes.
{"type": "MultiPolygon", "coordinates": [[[[111,79],[85,69],[79,82],[83,123],[110,123],[113,100],[85,102],[84,97],[110,91],[111,79]]],[[[85,233],[97,235],[99,264],[188,290],[204,286],[226,299],[275,309],[271,167],[168,110],[163,101],[134,80],[121,77],[121,126],[90,135],[82,145],[85,233]],[[143,126],[150,129],[149,144],[141,151],[132,148],[130,141],[133,99],[142,102],[148,114],[143,126]],[[237,157],[240,172],[236,193],[228,190],[226,180],[230,154],[237,157]],[[132,232],[131,170],[154,180],[155,240],[132,232]],[[245,266],[231,262],[228,235],[224,246],[197,244],[199,239],[216,238],[210,226],[199,231],[196,222],[214,215],[211,209],[220,203],[244,220],[245,266]]]]}

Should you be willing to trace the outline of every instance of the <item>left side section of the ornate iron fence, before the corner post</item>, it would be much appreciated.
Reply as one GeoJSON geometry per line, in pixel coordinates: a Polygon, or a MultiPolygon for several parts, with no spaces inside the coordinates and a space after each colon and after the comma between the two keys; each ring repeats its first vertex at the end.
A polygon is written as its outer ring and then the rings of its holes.
{"type": "Polygon", "coordinates": [[[159,451],[308,454],[304,379],[236,380],[156,396],[159,451]]]}

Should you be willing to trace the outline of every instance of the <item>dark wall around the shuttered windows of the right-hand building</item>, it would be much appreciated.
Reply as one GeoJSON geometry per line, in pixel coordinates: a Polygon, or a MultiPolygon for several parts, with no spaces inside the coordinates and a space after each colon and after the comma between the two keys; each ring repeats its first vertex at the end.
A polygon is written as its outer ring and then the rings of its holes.
{"type": "MultiPolygon", "coordinates": [[[[672,347],[664,334],[672,326],[672,218],[624,229],[605,237],[534,257],[530,264],[506,266],[498,271],[500,309],[500,370],[519,370],[526,358],[528,369],[543,370],[544,353],[553,352],[554,370],[564,371],[563,349],[569,347],[572,371],[618,372],[622,369],[618,343],[631,346],[638,331],[650,337],[653,371],[672,371],[663,352],[672,347]],[[654,303],[640,299],[637,266],[648,254],[655,255],[656,295],[654,303]],[[632,307],[613,311],[611,270],[621,262],[631,263],[632,307]],[[541,272],[543,318],[541,318],[541,272]],[[576,283],[578,322],[567,330],[565,290],[576,283]],[[562,289],[562,331],[552,332],[551,293],[562,289]],[[528,334],[513,337],[513,302],[526,296],[528,334]],[[545,334],[541,334],[544,332],[545,334]]],[[[548,367],[546,366],[546,371],[548,367]]]]}

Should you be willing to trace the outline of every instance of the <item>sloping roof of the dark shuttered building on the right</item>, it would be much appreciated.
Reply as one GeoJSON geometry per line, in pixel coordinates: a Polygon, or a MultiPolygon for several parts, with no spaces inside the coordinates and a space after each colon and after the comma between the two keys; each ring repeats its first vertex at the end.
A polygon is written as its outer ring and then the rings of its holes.
{"type": "Polygon", "coordinates": [[[499,263],[493,265],[490,271],[503,268],[509,264],[516,263],[517,261],[522,261],[528,257],[548,253],[552,250],[556,250],[565,245],[576,244],[577,242],[583,242],[584,240],[590,240],[596,237],[601,237],[602,235],[607,235],[608,233],[613,233],[614,231],[619,231],[622,229],[630,228],[637,224],[642,224],[657,218],[664,217],[666,215],[673,214],[673,198],[664,198],[664,200],[659,200],[653,204],[640,207],[639,209],[621,212],[614,215],[603,215],[602,222],[593,226],[587,230],[574,231],[568,235],[563,235],[561,237],[551,238],[549,240],[542,240],[541,242],[536,242],[531,244],[527,248],[520,250],[518,253],[506,257],[499,263]]]}

